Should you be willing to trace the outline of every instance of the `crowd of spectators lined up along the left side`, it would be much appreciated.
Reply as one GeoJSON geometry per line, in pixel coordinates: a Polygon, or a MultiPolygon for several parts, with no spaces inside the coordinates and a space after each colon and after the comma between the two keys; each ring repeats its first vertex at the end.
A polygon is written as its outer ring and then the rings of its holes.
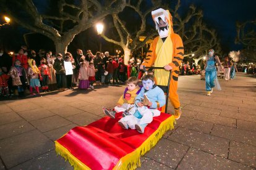
{"type": "Polygon", "coordinates": [[[17,54],[7,54],[0,49],[0,94],[23,97],[41,92],[65,91],[66,89],[94,89],[104,84],[124,83],[130,76],[139,76],[140,59],[130,59],[124,64],[123,57],[109,52],[77,49],[77,54],[66,52],[53,55],[41,49],[37,54],[22,46],[17,54]],[[29,91],[29,92],[28,92],[29,91]]]}

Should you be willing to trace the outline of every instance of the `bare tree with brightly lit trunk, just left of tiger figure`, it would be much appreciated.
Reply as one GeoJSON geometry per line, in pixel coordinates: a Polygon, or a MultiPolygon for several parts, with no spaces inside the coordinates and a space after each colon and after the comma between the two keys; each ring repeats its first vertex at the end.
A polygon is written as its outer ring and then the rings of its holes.
{"type": "MultiPolygon", "coordinates": [[[[144,2],[145,3],[145,2],[144,2]]],[[[134,52],[136,49],[139,49],[140,47],[145,46],[147,41],[154,36],[157,35],[157,32],[153,29],[145,33],[147,30],[147,17],[151,16],[151,11],[154,9],[157,9],[163,4],[161,4],[161,1],[154,1],[151,0],[151,6],[145,9],[145,4],[143,4],[143,0],[140,1],[127,1],[126,9],[128,8],[130,11],[133,12],[134,15],[137,15],[140,18],[140,25],[136,25],[134,22],[134,25],[130,26],[137,29],[132,30],[129,29],[129,24],[126,23],[126,20],[121,19],[119,12],[113,12],[113,23],[114,23],[114,29],[116,29],[116,33],[118,34],[118,37],[116,39],[109,38],[105,33],[102,34],[102,37],[108,41],[113,42],[114,44],[117,44],[122,47],[124,50],[124,62],[127,63],[130,54],[134,52]],[[145,36],[146,38],[143,39],[143,41],[140,41],[140,36],[145,36]]],[[[126,13],[127,11],[124,11],[126,13]]],[[[123,14],[125,15],[125,14],[123,14]]]]}

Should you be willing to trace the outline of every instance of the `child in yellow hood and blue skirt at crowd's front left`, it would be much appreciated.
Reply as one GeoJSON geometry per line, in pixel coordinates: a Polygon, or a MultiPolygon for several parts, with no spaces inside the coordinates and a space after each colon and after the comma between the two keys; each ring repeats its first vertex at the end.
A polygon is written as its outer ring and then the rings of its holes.
{"type": "Polygon", "coordinates": [[[33,93],[33,88],[35,88],[36,93],[40,94],[39,92],[39,87],[40,87],[40,82],[39,82],[39,77],[41,77],[40,70],[36,67],[36,62],[33,59],[28,59],[28,78],[30,79],[29,81],[29,89],[30,89],[30,95],[35,95],[33,93]]]}

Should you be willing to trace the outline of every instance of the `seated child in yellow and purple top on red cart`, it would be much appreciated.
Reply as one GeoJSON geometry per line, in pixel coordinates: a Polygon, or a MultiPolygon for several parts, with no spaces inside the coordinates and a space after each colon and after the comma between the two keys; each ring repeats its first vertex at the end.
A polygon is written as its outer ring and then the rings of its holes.
{"type": "Polygon", "coordinates": [[[130,115],[135,113],[134,100],[137,94],[140,92],[139,79],[136,77],[130,77],[127,79],[126,84],[127,87],[124,90],[124,94],[121,95],[120,99],[118,100],[116,107],[114,107],[114,111],[103,107],[104,113],[111,118],[115,118],[116,113],[121,111],[124,111],[123,116],[126,116],[126,113],[130,115]]]}

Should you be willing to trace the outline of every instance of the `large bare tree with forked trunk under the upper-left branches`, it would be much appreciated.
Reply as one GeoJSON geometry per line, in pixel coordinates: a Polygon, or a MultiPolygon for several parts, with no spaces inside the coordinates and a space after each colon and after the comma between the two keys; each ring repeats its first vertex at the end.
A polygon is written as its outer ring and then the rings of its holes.
{"type": "MultiPolygon", "coordinates": [[[[53,14],[41,12],[40,4],[32,0],[0,0],[1,9],[19,25],[52,39],[56,53],[64,53],[76,34],[95,25],[106,15],[119,12],[126,6],[125,0],[59,0],[53,14]]],[[[56,1],[54,1],[56,2],[56,1]]]]}

